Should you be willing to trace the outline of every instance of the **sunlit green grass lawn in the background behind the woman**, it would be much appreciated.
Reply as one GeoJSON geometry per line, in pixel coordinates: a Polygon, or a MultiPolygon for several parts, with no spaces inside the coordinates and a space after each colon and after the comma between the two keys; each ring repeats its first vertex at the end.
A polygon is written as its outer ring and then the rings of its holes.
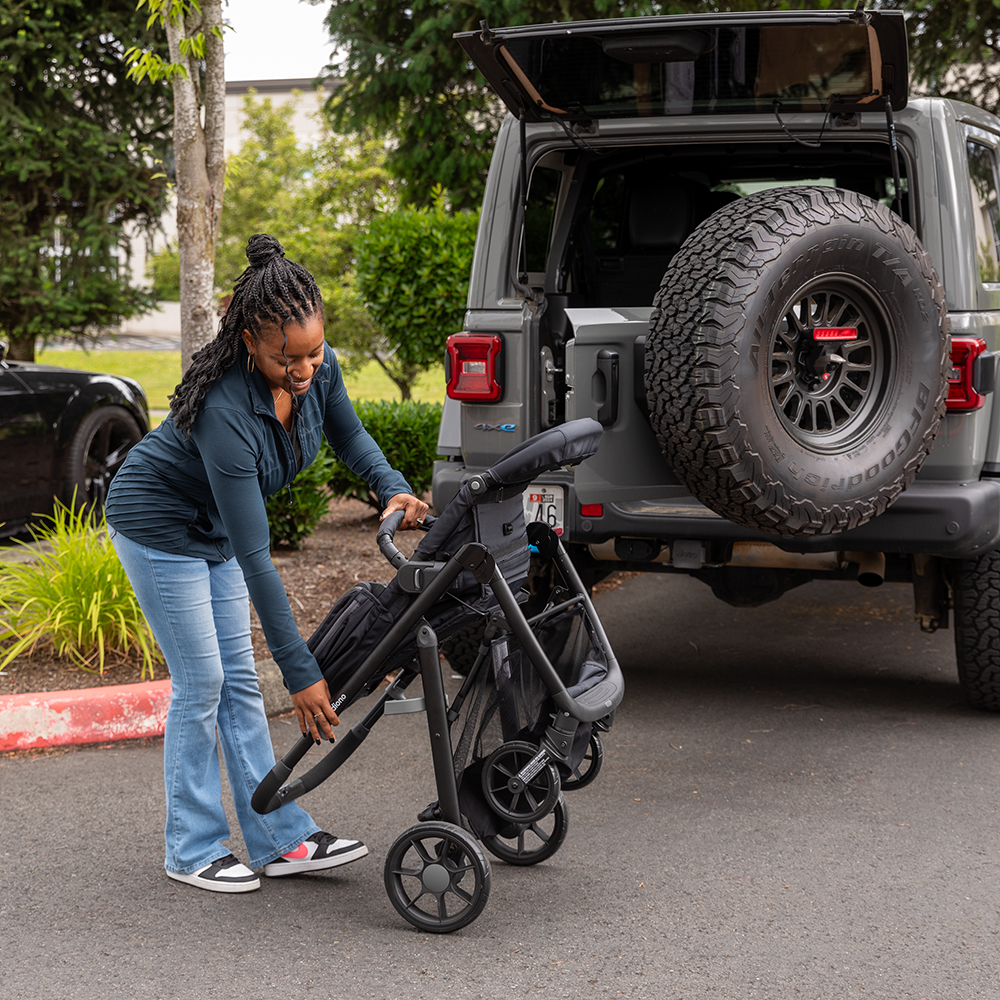
{"type": "MultiPolygon", "coordinates": [[[[170,409],[167,396],[181,377],[181,356],[177,351],[39,351],[36,359],[43,365],[134,378],[146,390],[151,410],[170,409]]],[[[374,361],[344,381],[351,399],[399,399],[399,390],[374,361]]],[[[421,374],[413,398],[421,403],[444,402],[444,373],[440,368],[421,374]]],[[[158,423],[155,419],[153,422],[158,423]]]]}

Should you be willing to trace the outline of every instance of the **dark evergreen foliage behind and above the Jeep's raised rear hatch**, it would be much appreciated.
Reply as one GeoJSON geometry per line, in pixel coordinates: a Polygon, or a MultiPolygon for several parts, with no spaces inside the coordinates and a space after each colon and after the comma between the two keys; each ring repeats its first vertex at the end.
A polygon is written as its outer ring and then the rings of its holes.
{"type": "MultiPolygon", "coordinates": [[[[324,0],[311,0],[313,3],[324,0]]],[[[332,0],[327,16],[344,78],[334,127],[399,137],[392,169],[404,201],[426,204],[439,183],[459,207],[479,203],[503,105],[452,35],[494,27],[640,14],[849,7],[845,0],[332,0]]],[[[911,72],[931,93],[1000,108],[1000,0],[873,0],[908,14],[911,72]]]]}

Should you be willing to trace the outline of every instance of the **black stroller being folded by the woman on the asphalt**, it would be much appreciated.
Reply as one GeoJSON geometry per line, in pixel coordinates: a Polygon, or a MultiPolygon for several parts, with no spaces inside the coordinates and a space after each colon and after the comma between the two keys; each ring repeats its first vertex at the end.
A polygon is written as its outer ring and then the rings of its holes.
{"type": "Polygon", "coordinates": [[[597,421],[574,420],[517,446],[465,483],[411,559],[393,543],[402,513],[386,518],[377,540],[395,579],[354,587],[309,640],[337,711],[378,697],[302,777],[288,781],[309,736],[254,793],[254,809],[271,812],[328,778],[383,715],[425,711],[438,799],[392,845],[384,871],[392,905],[423,931],[454,931],[482,912],[490,864],[480,841],[509,864],[551,857],[566,836],[563,791],[600,769],[621,671],[559,537],[525,523],[522,499],[537,476],[593,455],[600,437],[597,421]],[[555,583],[526,617],[529,573],[555,583]],[[472,627],[478,655],[449,706],[438,644],[472,627]],[[408,697],[418,675],[422,696],[408,697]]]}

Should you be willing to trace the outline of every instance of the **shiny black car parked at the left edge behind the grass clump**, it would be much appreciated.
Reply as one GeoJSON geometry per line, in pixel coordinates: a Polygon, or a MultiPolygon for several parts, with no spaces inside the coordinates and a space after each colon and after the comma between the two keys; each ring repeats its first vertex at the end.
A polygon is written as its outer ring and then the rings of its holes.
{"type": "Polygon", "coordinates": [[[103,504],[111,477],[148,430],[138,382],[9,361],[0,344],[0,535],[51,513],[53,497],[103,504]]]}

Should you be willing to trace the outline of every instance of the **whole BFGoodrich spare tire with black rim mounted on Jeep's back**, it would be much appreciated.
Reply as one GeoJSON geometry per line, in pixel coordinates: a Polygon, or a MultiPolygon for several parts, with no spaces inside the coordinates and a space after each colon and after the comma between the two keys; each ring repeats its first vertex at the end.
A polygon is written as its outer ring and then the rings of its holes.
{"type": "Polygon", "coordinates": [[[650,422],[691,494],[826,535],[881,514],[944,414],[944,290],[916,233],[838,188],[779,188],[685,241],[646,338],[650,422]]]}

